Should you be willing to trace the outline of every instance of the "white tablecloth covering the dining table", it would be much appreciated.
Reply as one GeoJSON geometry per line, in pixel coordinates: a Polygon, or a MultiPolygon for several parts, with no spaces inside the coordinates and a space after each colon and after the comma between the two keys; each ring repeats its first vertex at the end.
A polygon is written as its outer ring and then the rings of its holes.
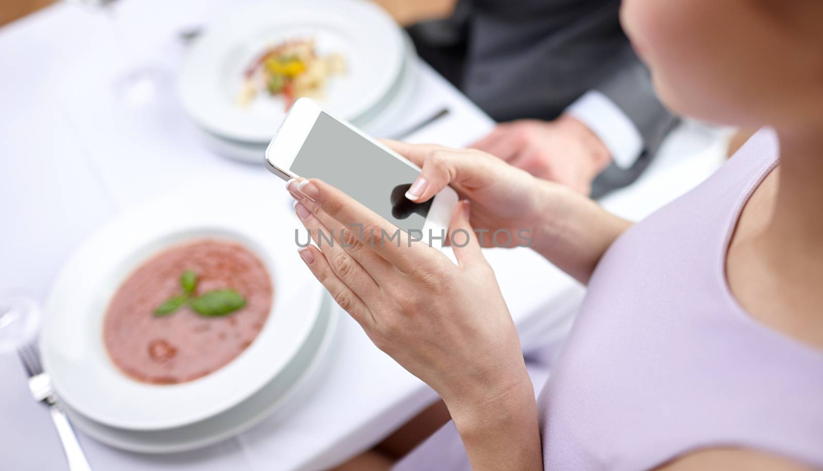
{"type": "MultiPolygon", "coordinates": [[[[128,60],[119,58],[123,45],[99,12],[59,4],[0,29],[0,289],[44,299],[72,249],[148,197],[221,179],[282,185],[262,166],[210,152],[174,98],[174,73],[185,54],[179,30],[237,3],[123,2],[117,20],[123,42],[132,44],[127,47],[137,51],[138,62],[148,58],[164,71],[154,105],[142,109],[124,108],[112,97],[111,82],[128,60]]],[[[492,126],[423,63],[415,99],[393,126],[405,128],[444,105],[451,110],[447,117],[408,140],[463,146],[492,126]]],[[[637,184],[602,203],[639,219],[703,180],[722,155],[716,131],[684,124],[637,184]]],[[[523,346],[559,345],[583,288],[528,249],[486,255],[523,346]]],[[[322,469],[379,441],[435,394],[338,315],[342,322],[326,374],[288,411],[207,450],[179,455],[126,453],[80,434],[92,466],[322,469]]],[[[18,363],[0,359],[0,469],[65,469],[48,413],[30,400],[18,363]]]]}

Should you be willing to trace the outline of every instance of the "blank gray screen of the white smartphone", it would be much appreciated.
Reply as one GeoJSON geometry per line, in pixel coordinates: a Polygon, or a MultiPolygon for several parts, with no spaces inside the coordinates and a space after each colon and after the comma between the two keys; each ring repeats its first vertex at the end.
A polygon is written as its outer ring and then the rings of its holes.
{"type": "Polygon", "coordinates": [[[422,231],[434,199],[409,201],[403,195],[419,172],[322,112],[291,171],[336,186],[403,231],[422,231]]]}

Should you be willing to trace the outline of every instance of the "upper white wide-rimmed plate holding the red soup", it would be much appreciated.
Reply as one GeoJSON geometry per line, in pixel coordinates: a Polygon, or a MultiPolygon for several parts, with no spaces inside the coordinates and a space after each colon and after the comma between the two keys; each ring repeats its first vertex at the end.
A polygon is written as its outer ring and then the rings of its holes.
{"type": "Polygon", "coordinates": [[[271,201],[243,189],[180,192],[133,208],[86,240],[53,285],[40,336],[45,370],[63,402],[112,427],[156,430],[212,417],[272,380],[308,338],[322,287],[294,253],[296,218],[271,201]],[[128,378],[103,343],[110,297],[152,254],[202,236],[239,241],[258,255],[272,276],[272,313],[253,343],[210,375],[178,385],[128,378]]]}

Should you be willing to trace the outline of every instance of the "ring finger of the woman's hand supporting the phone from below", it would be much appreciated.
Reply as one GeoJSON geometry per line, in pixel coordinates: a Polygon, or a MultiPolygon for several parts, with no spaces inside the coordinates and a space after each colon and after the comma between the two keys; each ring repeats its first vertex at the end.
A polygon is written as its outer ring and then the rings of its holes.
{"type": "Polygon", "coordinates": [[[303,222],[303,226],[311,233],[314,243],[325,255],[335,276],[351,288],[351,291],[354,291],[361,300],[370,302],[379,299],[380,287],[377,282],[374,282],[374,279],[369,273],[366,273],[360,263],[351,258],[351,255],[342,248],[339,241],[337,243],[332,242],[334,239],[328,227],[323,226],[319,219],[309,211],[309,208],[306,208],[302,203],[295,204],[295,212],[297,217],[300,217],[300,222],[303,222]]]}

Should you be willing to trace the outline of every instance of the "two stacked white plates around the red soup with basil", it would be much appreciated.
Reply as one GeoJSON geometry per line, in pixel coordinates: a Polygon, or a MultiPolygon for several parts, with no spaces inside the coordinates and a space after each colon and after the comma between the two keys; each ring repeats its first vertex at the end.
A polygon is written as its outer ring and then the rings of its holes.
{"type": "Polygon", "coordinates": [[[295,254],[296,221],[270,195],[232,194],[186,192],[134,208],[92,235],[58,276],[40,349],[60,403],[89,435],[146,453],[190,450],[253,426],[322,378],[337,310],[295,254]],[[132,380],[103,342],[109,299],[144,260],[202,237],[258,255],[272,277],[272,312],[253,343],[209,375],[175,385],[132,380]]]}

